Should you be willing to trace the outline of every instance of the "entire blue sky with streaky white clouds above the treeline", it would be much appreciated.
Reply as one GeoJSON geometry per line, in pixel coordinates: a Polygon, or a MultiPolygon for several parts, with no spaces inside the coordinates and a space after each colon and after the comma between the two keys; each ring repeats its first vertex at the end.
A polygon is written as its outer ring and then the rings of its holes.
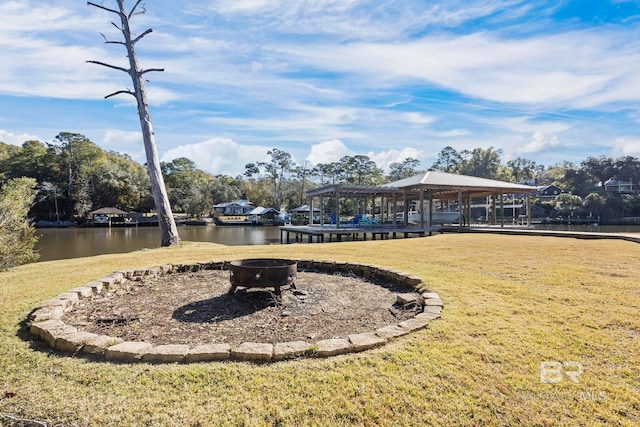
{"type": "MultiPolygon", "coordinates": [[[[115,0],[98,0],[115,7],[115,0]]],[[[128,5],[133,1],[127,0],[128,5]]],[[[132,21],[161,160],[239,175],[297,162],[379,166],[440,150],[544,165],[640,156],[640,1],[146,0],[132,21]]],[[[115,15],[0,1],[0,141],[86,135],[144,162],[115,15]]]]}

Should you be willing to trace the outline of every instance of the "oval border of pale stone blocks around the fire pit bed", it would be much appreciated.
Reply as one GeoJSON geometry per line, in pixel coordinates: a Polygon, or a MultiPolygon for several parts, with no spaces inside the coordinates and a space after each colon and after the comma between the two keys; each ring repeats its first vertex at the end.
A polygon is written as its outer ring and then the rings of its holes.
{"type": "MultiPolygon", "coordinates": [[[[374,265],[353,264],[342,261],[296,260],[298,268],[316,271],[352,272],[357,276],[376,275],[383,280],[418,289],[424,285],[417,276],[374,265]]],[[[44,301],[30,316],[29,331],[40,337],[52,349],[77,354],[103,357],[114,362],[192,363],[213,360],[239,360],[269,362],[303,356],[329,357],[338,354],[369,350],[387,341],[425,328],[440,317],[444,307],[438,294],[422,293],[423,311],[415,317],[375,331],[351,334],[348,339],[328,339],[314,344],[305,341],[277,343],[244,342],[237,347],[229,344],[153,345],[146,342],[123,341],[121,338],[79,331],[62,321],[64,313],[71,311],[81,300],[100,294],[103,290],[116,290],[124,279],[142,280],[147,277],[199,270],[228,270],[231,261],[207,261],[196,264],[173,264],[134,270],[121,270],[102,277],[85,286],[71,289],[44,301]]],[[[399,295],[400,297],[402,295],[399,295]]],[[[411,301],[408,301],[410,303],[411,301]]],[[[415,301],[414,301],[415,302],[415,301]]]]}

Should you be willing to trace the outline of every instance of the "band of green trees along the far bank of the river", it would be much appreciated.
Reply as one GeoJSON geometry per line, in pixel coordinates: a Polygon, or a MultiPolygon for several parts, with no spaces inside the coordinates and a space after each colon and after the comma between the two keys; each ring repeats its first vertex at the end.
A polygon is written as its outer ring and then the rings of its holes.
{"type": "MultiPolygon", "coordinates": [[[[563,162],[545,167],[533,160],[503,162],[499,149],[458,151],[443,148],[431,165],[444,172],[533,185],[557,185],[564,193],[553,202],[538,203],[544,216],[568,212],[610,218],[640,216],[637,194],[605,191],[609,179],[640,182],[640,160],[632,156],[588,157],[580,164],[563,162]]],[[[293,208],[306,203],[305,193],[332,184],[379,185],[422,172],[420,161],[406,158],[384,171],[366,155],[311,165],[297,163],[281,149],[268,160],[248,163],[244,174],[231,177],[198,169],[193,160],[162,162],[169,200],[175,212],[189,217],[208,215],[215,203],[246,198],[256,205],[293,208]]],[[[154,208],[145,165],[126,154],[105,151],[77,133],[62,132],[51,142],[26,141],[22,146],[0,142],[0,186],[14,178],[32,178],[36,196],[29,216],[48,221],[75,220],[90,211],[113,206],[125,211],[154,208]]]]}

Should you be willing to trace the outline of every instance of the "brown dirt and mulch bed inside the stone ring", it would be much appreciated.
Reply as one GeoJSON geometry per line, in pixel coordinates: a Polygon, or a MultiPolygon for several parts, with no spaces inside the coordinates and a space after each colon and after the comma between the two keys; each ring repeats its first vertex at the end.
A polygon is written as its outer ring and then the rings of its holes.
{"type": "Polygon", "coordinates": [[[229,272],[203,270],[125,281],[115,292],[82,300],[63,321],[79,330],[151,344],[310,343],[346,338],[413,317],[421,307],[397,303],[413,289],[350,274],[299,271],[278,297],[239,288],[227,296],[229,272]]]}

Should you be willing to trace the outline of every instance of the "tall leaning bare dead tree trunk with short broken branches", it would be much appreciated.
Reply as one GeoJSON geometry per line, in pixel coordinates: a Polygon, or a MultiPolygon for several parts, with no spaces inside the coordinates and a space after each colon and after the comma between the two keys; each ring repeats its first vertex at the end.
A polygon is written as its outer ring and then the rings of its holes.
{"type": "Polygon", "coordinates": [[[111,22],[111,24],[122,32],[124,41],[108,40],[104,34],[102,37],[107,44],[122,45],[127,49],[127,57],[129,58],[129,68],[119,67],[116,65],[106,64],[100,61],[87,61],[92,64],[102,65],[103,67],[112,68],[114,70],[123,71],[131,76],[133,82],[133,90],[119,90],[113,92],[107,96],[108,99],[115,95],[128,94],[136,98],[138,104],[138,115],[140,116],[140,126],[142,127],[142,139],[144,141],[144,150],[147,156],[147,170],[149,177],[151,178],[151,190],[153,193],[153,200],[158,211],[158,223],[162,233],[161,245],[171,246],[180,242],[180,236],[178,235],[178,229],[176,227],[173,213],[171,212],[171,205],[169,203],[169,197],[167,196],[167,189],[162,178],[162,171],[160,170],[160,160],[158,159],[158,150],[156,148],[155,136],[153,133],[153,127],[151,125],[151,115],[149,114],[149,105],[147,103],[147,94],[144,88],[144,75],[151,71],[164,71],[163,68],[149,68],[143,70],[138,65],[138,59],[136,56],[135,45],[144,36],[150,34],[153,30],[148,29],[139,36],[132,38],[131,28],[129,21],[135,15],[144,14],[146,12],[144,6],[140,3],[142,0],[137,0],[131,10],[127,12],[125,10],[124,0],[116,0],[118,9],[111,9],[101,4],[93,2],[87,2],[89,6],[94,6],[107,12],[114,13],[120,17],[120,24],[111,22]]]}

